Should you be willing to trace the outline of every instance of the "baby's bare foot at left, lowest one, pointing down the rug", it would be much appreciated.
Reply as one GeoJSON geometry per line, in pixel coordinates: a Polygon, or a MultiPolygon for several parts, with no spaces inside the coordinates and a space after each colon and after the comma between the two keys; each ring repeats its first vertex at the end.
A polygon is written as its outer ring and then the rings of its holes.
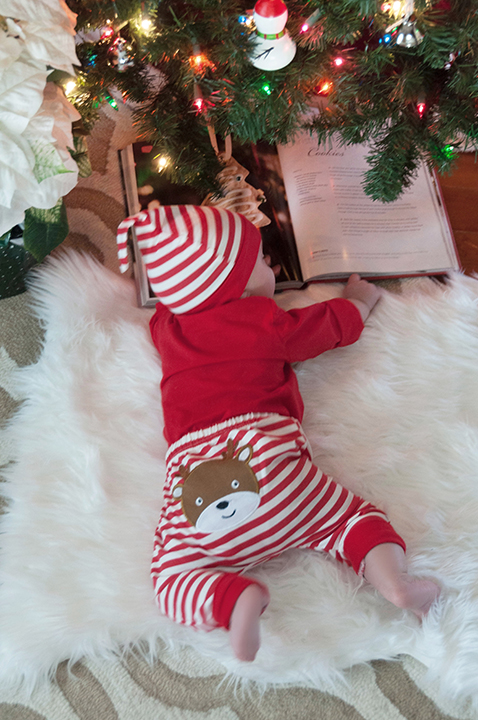
{"type": "Polygon", "coordinates": [[[260,617],[269,603],[269,592],[264,586],[248,585],[234,605],[229,623],[231,646],[239,660],[252,662],[259,650],[260,617]]]}

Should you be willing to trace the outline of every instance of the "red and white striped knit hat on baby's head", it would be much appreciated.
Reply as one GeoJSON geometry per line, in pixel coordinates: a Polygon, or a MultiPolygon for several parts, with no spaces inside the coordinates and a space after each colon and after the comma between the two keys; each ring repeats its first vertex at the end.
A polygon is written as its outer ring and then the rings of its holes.
{"type": "Polygon", "coordinates": [[[118,227],[121,272],[129,267],[133,225],[151,288],[171,312],[204,310],[241,297],[261,243],[259,230],[243,215],[195,205],[133,215],[118,227]]]}

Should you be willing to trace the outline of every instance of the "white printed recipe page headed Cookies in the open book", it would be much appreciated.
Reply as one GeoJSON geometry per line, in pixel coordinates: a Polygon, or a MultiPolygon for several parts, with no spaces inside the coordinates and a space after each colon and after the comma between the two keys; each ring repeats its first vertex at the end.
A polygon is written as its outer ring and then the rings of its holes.
{"type": "Polygon", "coordinates": [[[304,279],[428,273],[459,267],[446,213],[425,167],[393,203],[369,198],[364,145],[300,133],[278,153],[304,279]]]}

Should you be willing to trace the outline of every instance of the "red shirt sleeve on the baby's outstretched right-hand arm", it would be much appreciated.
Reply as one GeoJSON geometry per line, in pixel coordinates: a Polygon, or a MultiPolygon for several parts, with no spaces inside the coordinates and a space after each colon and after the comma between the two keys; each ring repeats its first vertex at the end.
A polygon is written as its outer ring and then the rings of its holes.
{"type": "Polygon", "coordinates": [[[287,312],[278,310],[275,325],[291,363],[351,345],[358,340],[364,327],[360,312],[345,298],[287,312]]]}

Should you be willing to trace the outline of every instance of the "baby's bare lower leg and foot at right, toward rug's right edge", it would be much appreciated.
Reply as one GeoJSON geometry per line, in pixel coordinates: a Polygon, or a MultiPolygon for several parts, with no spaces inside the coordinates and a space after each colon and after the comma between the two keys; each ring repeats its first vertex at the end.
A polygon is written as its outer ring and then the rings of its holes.
{"type": "Polygon", "coordinates": [[[427,614],[440,594],[440,588],[432,580],[408,574],[405,552],[395,543],[372,548],[364,558],[363,574],[386,600],[411,610],[420,618],[427,614]]]}

